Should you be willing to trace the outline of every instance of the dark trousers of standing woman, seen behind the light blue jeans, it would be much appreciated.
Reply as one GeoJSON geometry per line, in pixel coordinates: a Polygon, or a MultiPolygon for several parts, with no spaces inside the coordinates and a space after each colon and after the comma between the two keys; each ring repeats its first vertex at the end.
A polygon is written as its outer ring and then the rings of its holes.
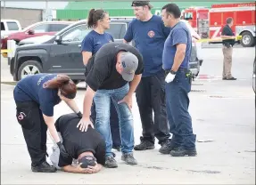
{"type": "MultiPolygon", "coordinates": [[[[91,117],[95,122],[96,120],[96,111],[95,111],[95,102],[93,102],[92,108],[91,108],[91,117]]],[[[112,138],[112,147],[120,147],[121,146],[121,140],[120,140],[120,125],[119,125],[119,117],[117,110],[113,104],[113,101],[111,100],[111,118],[110,118],[110,125],[111,125],[111,138],[112,138]]]]}

